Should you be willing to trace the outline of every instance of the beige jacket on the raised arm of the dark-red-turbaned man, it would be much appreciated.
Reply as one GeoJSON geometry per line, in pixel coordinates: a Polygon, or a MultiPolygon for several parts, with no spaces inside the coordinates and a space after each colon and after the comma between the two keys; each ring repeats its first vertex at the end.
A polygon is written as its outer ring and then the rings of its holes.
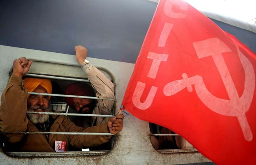
{"type": "MultiPolygon", "coordinates": [[[[91,64],[86,64],[82,69],[90,80],[92,87],[97,91],[96,97],[100,98],[97,100],[97,105],[92,114],[111,115],[114,101],[104,99],[115,99],[114,84],[101,71],[91,64]]],[[[92,125],[107,123],[107,120],[108,118],[93,117],[92,125]]]]}

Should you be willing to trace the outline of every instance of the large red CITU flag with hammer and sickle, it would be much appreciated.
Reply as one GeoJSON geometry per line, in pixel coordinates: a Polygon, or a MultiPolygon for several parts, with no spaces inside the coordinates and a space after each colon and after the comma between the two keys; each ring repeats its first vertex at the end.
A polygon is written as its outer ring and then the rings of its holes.
{"type": "Polygon", "coordinates": [[[217,164],[256,164],[256,57],[181,0],[161,0],[122,105],[217,164]]]}

